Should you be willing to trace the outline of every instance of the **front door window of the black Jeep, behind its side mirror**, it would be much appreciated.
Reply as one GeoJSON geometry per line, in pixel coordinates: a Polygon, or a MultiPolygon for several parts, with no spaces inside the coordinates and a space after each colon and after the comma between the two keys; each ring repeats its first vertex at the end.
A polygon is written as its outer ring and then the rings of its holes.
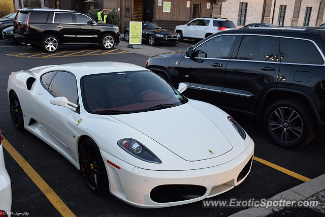
{"type": "Polygon", "coordinates": [[[228,59],[235,44],[235,35],[214,37],[194,50],[194,57],[228,59]]]}

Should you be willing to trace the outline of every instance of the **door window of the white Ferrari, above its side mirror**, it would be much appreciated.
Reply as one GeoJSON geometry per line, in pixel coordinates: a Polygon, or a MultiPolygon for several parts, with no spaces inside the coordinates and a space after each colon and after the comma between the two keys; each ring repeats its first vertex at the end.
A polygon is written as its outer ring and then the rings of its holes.
{"type": "Polygon", "coordinates": [[[77,81],[69,72],[58,71],[49,87],[54,97],[66,97],[70,102],[78,104],[77,81]]]}

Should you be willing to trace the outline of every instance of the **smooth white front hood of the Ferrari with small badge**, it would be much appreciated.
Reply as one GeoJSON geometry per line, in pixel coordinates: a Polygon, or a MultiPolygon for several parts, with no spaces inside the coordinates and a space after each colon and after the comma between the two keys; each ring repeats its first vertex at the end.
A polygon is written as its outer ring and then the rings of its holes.
{"type": "Polygon", "coordinates": [[[190,103],[113,117],[151,137],[186,161],[215,158],[233,148],[218,126],[190,103]]]}

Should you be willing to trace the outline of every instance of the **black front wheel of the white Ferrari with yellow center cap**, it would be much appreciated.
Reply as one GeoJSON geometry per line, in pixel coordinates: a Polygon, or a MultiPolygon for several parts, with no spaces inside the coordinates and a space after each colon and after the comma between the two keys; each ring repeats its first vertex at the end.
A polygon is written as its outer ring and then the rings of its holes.
{"type": "Polygon", "coordinates": [[[88,189],[95,194],[106,194],[109,190],[106,167],[100,149],[90,138],[80,144],[79,164],[88,189]]]}

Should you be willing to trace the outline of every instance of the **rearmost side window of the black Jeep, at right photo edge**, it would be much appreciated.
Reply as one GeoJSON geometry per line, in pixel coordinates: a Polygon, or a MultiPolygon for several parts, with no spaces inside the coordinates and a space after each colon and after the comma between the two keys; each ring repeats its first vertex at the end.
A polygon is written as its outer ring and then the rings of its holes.
{"type": "Polygon", "coordinates": [[[316,46],[307,40],[280,38],[281,63],[324,64],[316,46]]]}

